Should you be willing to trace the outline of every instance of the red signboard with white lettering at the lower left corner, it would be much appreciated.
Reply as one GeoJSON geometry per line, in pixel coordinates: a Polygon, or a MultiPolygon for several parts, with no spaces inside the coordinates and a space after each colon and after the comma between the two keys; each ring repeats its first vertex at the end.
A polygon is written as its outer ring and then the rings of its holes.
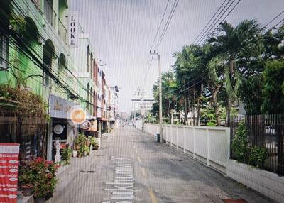
{"type": "Polygon", "coordinates": [[[0,202],[17,202],[18,153],[20,145],[0,143],[0,202]]]}

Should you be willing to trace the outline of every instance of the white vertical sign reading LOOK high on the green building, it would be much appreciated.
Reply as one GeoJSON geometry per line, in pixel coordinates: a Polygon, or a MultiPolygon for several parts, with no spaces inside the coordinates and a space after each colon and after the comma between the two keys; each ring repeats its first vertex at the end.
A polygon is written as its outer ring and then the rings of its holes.
{"type": "Polygon", "coordinates": [[[77,48],[78,41],[78,13],[70,12],[68,16],[68,45],[77,48]]]}

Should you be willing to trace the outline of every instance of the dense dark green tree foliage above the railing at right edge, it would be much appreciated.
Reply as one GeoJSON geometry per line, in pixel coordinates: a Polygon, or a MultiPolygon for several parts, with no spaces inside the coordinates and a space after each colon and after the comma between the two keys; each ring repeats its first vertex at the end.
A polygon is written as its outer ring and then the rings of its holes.
{"type": "Polygon", "coordinates": [[[263,105],[264,114],[284,113],[284,60],[273,60],[266,63],[263,72],[263,105]]]}

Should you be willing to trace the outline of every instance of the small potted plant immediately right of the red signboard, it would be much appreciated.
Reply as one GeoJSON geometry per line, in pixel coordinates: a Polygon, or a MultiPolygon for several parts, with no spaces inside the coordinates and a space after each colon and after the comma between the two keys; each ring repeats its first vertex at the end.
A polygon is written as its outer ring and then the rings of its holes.
{"type": "Polygon", "coordinates": [[[23,190],[23,196],[31,196],[33,194],[35,175],[29,163],[21,163],[18,179],[23,190]]]}

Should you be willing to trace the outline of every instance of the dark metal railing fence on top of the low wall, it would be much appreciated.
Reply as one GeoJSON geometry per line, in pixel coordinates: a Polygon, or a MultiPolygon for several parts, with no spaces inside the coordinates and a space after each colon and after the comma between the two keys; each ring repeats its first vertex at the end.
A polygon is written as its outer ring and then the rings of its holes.
{"type": "MultiPolygon", "coordinates": [[[[284,114],[235,117],[231,121],[231,142],[242,120],[249,131],[249,147],[267,148],[263,168],[284,175],[284,114]]],[[[232,150],[231,158],[235,158],[232,150]]]]}

